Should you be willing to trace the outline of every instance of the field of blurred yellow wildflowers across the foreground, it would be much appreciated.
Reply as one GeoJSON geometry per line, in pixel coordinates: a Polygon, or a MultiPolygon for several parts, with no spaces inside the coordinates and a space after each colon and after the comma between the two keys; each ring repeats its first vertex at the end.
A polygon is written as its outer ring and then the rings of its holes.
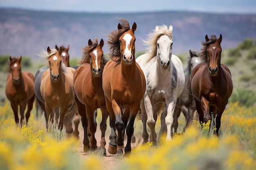
{"type": "MultiPolygon", "coordinates": [[[[246,108],[229,103],[222,115],[220,137],[209,133],[198,122],[185,134],[175,134],[172,141],[159,139],[158,146],[137,145],[128,157],[115,156],[115,166],[108,167],[101,153],[81,157],[78,142],[58,131],[47,133],[45,124],[36,121],[34,110],[22,128],[14,123],[9,102],[0,106],[1,170],[101,170],[101,169],[256,169],[256,106],[246,108]],[[57,134],[57,135],[56,135],[57,134]],[[103,165],[104,164],[104,165],[103,165]],[[105,168],[104,168],[105,167],[105,168]]],[[[184,119],[179,120],[184,125],[184,119]]],[[[139,130],[139,124],[135,128],[139,130]]],[[[80,132],[83,133],[83,132],[80,132]]]]}

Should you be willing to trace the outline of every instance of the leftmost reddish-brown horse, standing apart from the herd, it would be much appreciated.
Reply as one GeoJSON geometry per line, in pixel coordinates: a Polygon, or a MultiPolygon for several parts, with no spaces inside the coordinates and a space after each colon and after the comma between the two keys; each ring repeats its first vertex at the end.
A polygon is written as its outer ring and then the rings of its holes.
{"type": "Polygon", "coordinates": [[[18,106],[20,106],[20,125],[23,125],[24,112],[27,106],[26,122],[35,100],[34,75],[27,71],[21,71],[20,58],[11,57],[9,62],[9,74],[5,86],[5,94],[11,103],[16,124],[19,123],[18,106]]]}

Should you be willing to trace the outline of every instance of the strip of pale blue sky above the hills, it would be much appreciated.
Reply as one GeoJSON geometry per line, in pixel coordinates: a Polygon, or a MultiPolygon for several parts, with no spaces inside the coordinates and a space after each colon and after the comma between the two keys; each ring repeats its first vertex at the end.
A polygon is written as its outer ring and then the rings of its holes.
{"type": "Polygon", "coordinates": [[[100,13],[196,11],[256,14],[256,0],[0,0],[0,8],[5,7],[100,13]]]}

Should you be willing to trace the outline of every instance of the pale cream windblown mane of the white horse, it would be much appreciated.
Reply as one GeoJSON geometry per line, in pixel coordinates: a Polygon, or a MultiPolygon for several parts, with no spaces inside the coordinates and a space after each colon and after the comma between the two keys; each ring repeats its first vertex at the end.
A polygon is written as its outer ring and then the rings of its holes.
{"type": "Polygon", "coordinates": [[[144,45],[148,46],[147,48],[147,57],[145,58],[145,63],[148,63],[153,57],[157,54],[157,40],[162,35],[167,35],[171,40],[173,39],[173,32],[168,29],[166,25],[159,26],[158,30],[148,34],[146,40],[142,40],[144,45]]]}

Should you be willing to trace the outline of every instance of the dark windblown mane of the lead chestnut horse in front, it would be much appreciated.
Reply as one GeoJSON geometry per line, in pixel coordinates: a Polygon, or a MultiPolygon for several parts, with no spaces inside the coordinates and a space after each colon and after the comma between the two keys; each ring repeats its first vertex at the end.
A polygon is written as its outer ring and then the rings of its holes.
{"type": "Polygon", "coordinates": [[[111,60],[118,63],[121,62],[119,37],[130,29],[130,24],[126,19],[121,18],[119,19],[119,22],[122,26],[122,29],[113,30],[110,32],[110,35],[107,35],[108,36],[107,44],[109,45],[109,51],[110,51],[108,56],[110,57],[111,60]]]}

